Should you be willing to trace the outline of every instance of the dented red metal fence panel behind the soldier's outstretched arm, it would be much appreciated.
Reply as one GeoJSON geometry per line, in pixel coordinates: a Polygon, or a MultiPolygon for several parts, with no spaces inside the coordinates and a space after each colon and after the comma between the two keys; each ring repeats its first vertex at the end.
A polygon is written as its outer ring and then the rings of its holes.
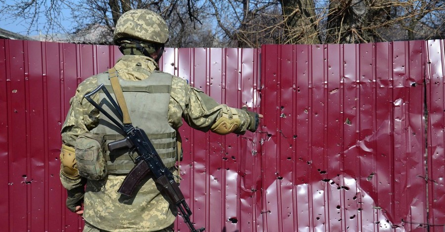
{"type": "MultiPolygon", "coordinates": [[[[161,69],[187,79],[219,103],[258,111],[259,60],[258,49],[179,48],[167,50],[161,69]]],[[[186,125],[180,134],[180,187],[190,199],[192,221],[206,231],[255,231],[261,208],[259,136],[221,136],[186,125]]],[[[187,230],[180,218],[177,228],[187,230]]]]}

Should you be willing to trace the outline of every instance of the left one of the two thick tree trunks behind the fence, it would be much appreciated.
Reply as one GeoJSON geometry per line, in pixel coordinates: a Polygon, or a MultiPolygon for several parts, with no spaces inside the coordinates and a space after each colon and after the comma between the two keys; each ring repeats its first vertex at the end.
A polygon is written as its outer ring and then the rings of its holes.
{"type": "Polygon", "coordinates": [[[281,0],[285,43],[320,43],[313,0],[281,0]]]}

